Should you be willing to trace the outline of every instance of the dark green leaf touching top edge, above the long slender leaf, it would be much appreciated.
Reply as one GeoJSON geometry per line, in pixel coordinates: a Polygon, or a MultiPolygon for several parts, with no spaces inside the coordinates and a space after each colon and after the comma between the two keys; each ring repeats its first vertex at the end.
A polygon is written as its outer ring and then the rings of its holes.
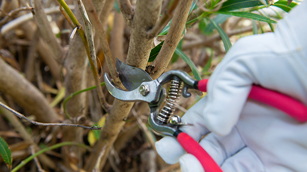
{"type": "Polygon", "coordinates": [[[226,0],[219,11],[232,11],[259,5],[263,5],[260,0],[226,0]]]}

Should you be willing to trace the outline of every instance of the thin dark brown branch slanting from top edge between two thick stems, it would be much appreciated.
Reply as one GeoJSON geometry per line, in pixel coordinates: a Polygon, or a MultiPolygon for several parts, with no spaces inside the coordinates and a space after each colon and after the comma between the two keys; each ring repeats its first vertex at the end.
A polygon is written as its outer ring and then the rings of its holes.
{"type": "Polygon", "coordinates": [[[152,29],[150,29],[147,32],[147,37],[152,38],[155,37],[157,34],[159,34],[162,29],[165,28],[167,23],[170,21],[170,19],[173,17],[173,11],[175,10],[179,0],[174,0],[171,6],[164,11],[164,14],[162,15],[161,19],[159,20],[159,23],[157,23],[152,29]]]}

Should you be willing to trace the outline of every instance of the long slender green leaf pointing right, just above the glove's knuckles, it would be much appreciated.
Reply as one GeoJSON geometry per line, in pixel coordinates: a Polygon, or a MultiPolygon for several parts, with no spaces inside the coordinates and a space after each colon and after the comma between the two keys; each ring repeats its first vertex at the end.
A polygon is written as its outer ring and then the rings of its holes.
{"type": "Polygon", "coordinates": [[[257,20],[260,22],[277,23],[276,21],[271,20],[268,17],[262,16],[259,14],[250,13],[250,12],[222,12],[222,11],[219,11],[217,13],[228,14],[228,15],[237,16],[237,17],[244,17],[244,18],[248,18],[252,20],[257,20]]]}

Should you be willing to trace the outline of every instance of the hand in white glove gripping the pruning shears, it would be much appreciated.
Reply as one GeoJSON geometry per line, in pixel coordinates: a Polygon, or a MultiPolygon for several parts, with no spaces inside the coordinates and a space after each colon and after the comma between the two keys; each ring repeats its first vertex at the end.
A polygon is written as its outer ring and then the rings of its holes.
{"type": "MultiPolygon", "coordinates": [[[[247,100],[252,84],[277,90],[307,105],[307,1],[279,22],[274,33],[237,41],[210,77],[208,94],[182,118],[180,129],[224,172],[307,172],[307,123],[247,100]],[[212,133],[210,133],[210,131],[212,133]]],[[[172,137],[156,143],[169,164],[203,172],[172,137]]]]}

